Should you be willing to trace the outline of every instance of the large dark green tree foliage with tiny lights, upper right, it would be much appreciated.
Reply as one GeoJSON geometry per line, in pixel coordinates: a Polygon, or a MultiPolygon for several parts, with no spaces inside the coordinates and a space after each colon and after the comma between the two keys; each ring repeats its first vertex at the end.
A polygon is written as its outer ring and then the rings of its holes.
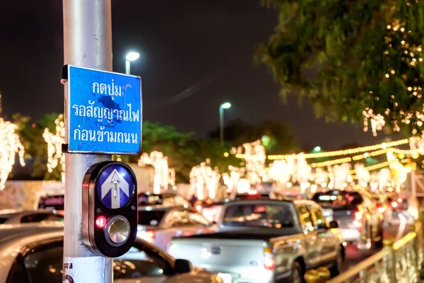
{"type": "Polygon", "coordinates": [[[261,2],[279,15],[256,58],[282,96],[307,96],[327,121],[370,125],[382,115],[396,132],[423,129],[423,1],[261,2]]]}

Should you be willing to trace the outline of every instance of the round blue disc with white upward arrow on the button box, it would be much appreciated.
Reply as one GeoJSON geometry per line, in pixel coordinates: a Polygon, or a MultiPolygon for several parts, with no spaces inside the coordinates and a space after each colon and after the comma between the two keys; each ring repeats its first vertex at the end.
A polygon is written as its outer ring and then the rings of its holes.
{"type": "Polygon", "coordinates": [[[119,165],[112,165],[102,171],[95,185],[98,197],[105,207],[124,207],[134,195],[131,173],[119,165]]]}

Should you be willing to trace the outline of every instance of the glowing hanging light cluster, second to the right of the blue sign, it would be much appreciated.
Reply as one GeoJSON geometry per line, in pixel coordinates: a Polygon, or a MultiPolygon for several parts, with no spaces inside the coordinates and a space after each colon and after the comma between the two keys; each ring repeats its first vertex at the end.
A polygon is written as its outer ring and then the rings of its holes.
{"type": "Polygon", "coordinates": [[[220,173],[218,168],[211,168],[211,160],[206,159],[190,171],[191,194],[196,195],[198,200],[204,200],[206,193],[209,198],[216,198],[219,187],[220,173]]]}

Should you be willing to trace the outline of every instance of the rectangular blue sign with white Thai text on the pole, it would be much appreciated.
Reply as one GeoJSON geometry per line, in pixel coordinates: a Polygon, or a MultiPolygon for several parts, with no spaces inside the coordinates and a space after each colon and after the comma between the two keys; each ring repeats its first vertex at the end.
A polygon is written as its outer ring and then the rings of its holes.
{"type": "Polygon", "coordinates": [[[68,65],[68,151],[141,154],[139,76],[68,65]]]}

